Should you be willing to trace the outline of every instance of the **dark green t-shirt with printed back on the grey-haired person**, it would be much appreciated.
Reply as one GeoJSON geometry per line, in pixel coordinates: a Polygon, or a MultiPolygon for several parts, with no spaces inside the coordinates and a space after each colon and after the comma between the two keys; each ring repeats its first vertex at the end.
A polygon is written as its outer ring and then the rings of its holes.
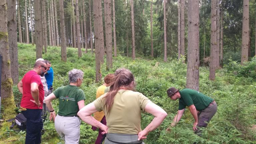
{"type": "Polygon", "coordinates": [[[85,100],[84,91],[77,86],[67,85],[57,88],[53,94],[59,98],[60,116],[75,116],[79,111],[77,102],[85,100]]]}

